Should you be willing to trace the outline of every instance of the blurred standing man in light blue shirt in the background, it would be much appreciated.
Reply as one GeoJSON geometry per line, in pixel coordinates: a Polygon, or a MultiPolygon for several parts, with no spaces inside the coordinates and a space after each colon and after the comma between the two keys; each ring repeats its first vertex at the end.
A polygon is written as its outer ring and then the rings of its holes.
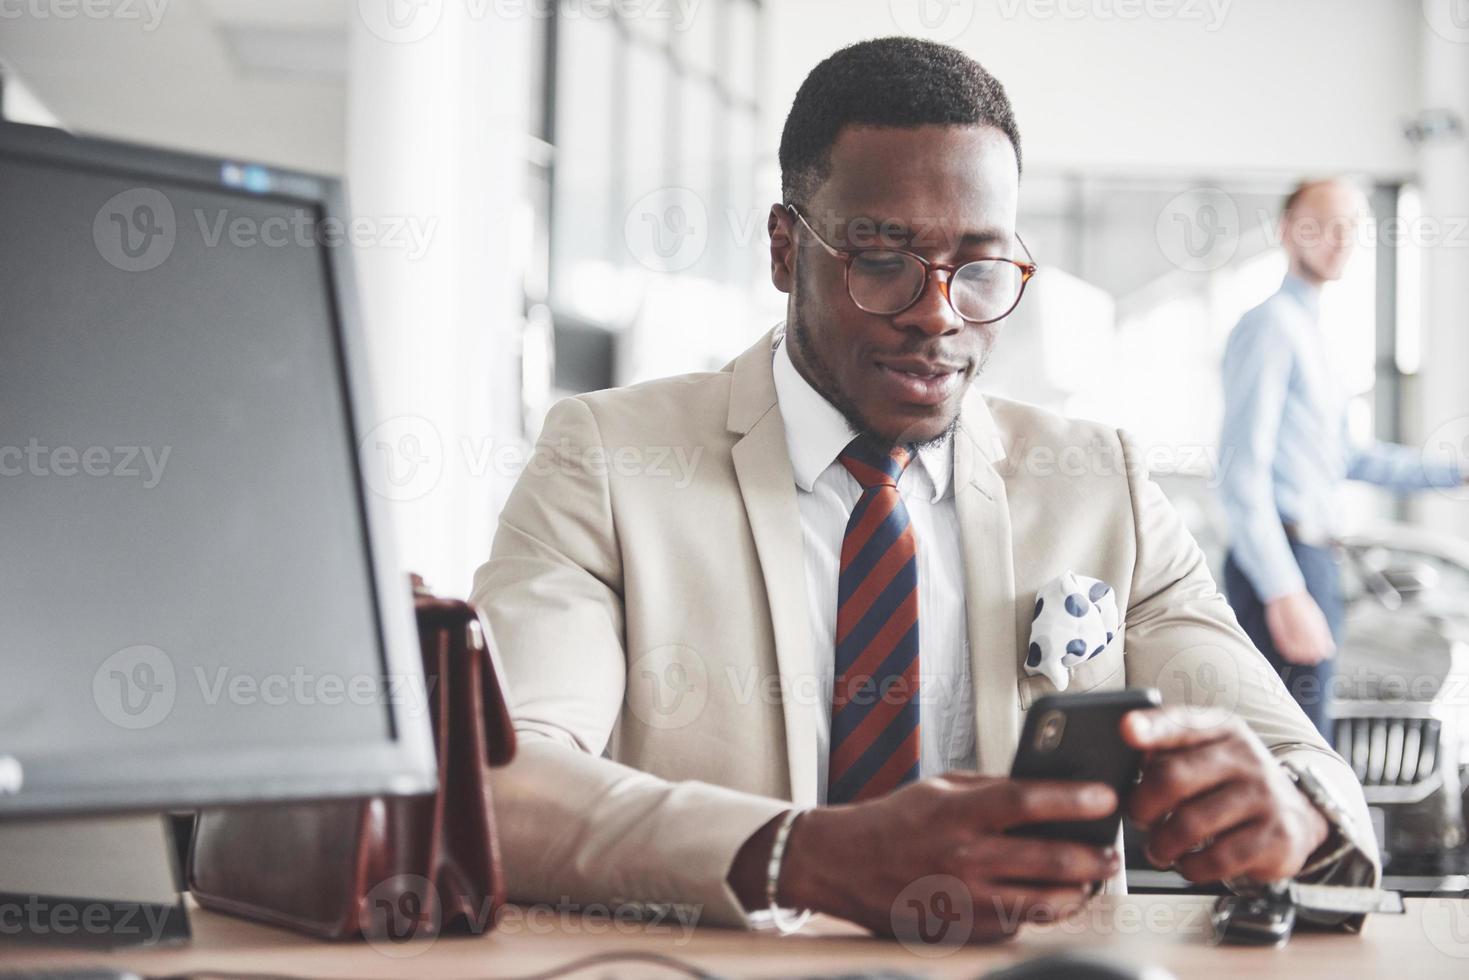
{"type": "Polygon", "coordinates": [[[1418,491],[1465,479],[1457,463],[1425,463],[1415,447],[1353,445],[1349,436],[1321,289],[1341,278],[1366,215],[1362,192],[1344,181],[1297,187],[1281,215],[1290,272],[1240,319],[1224,354],[1225,591],[1240,626],[1328,739],[1331,657],[1343,626],[1331,547],[1337,486],[1354,479],[1418,491]]]}

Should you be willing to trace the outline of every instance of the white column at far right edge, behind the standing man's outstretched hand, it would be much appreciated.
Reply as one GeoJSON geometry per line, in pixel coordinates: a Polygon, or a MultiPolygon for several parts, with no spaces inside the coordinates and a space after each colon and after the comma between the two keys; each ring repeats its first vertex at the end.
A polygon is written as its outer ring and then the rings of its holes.
{"type": "MultiPolygon", "coordinates": [[[[1448,109],[1469,123],[1469,24],[1451,16],[1456,0],[1426,0],[1422,22],[1423,109],[1448,109]]],[[[1429,451],[1457,447],[1469,461],[1469,140],[1429,141],[1419,151],[1425,226],[1440,231],[1423,248],[1422,369],[1418,397],[1409,404],[1406,433],[1429,451]]],[[[1416,514],[1434,527],[1469,536],[1469,492],[1428,492],[1416,514]]]]}

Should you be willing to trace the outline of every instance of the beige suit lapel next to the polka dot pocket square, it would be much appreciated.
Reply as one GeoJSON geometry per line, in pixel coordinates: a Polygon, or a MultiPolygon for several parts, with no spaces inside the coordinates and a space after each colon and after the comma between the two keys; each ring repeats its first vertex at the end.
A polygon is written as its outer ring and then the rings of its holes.
{"type": "Polygon", "coordinates": [[[953,492],[964,541],[970,670],[980,771],[1009,773],[1019,742],[1019,646],[1009,498],[995,419],[971,389],[953,441],[953,492]]]}

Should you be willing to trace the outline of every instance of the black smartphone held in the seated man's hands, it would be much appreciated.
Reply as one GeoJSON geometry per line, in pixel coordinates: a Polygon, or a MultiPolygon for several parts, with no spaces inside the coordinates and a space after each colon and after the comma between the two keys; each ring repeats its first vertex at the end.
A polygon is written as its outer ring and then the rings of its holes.
{"type": "Polygon", "coordinates": [[[1156,688],[1036,698],[1025,713],[1011,776],[1106,783],[1116,792],[1119,805],[1116,813],[1100,820],[1037,823],[1012,827],[1009,833],[1112,846],[1143,761],[1141,752],[1122,741],[1122,716],[1162,704],[1156,688]]]}

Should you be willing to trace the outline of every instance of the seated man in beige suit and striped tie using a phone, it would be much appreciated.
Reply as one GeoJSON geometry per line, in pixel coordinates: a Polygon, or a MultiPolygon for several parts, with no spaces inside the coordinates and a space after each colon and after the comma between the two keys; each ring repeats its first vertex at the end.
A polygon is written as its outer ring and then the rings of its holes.
{"type": "Polygon", "coordinates": [[[780,163],[789,326],[721,372],[560,403],[476,576],[521,736],[495,788],[511,895],[906,933],[925,892],[961,889],[995,937],[1116,890],[1115,851],[1006,833],[1116,808],[1005,777],[1053,691],[1024,670],[1036,594],[1066,570],[1127,623],[1068,689],[1168,705],[1124,726],[1150,857],[1200,882],[1372,880],[1360,788],[1137,448],[972,388],[1030,270],[999,82],[930,41],[852,46],[801,87],[780,163]],[[636,466],[668,447],[699,451],[687,485],[636,466]],[[1100,463],[1030,464],[1075,448],[1100,463]]]}

